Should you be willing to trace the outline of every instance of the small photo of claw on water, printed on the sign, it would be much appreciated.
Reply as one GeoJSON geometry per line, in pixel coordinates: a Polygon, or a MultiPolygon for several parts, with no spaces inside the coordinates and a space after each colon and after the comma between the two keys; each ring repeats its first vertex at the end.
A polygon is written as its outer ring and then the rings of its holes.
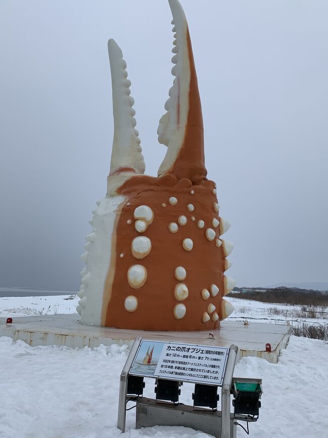
{"type": "Polygon", "coordinates": [[[130,373],[154,374],[162,348],[161,342],[143,340],[130,373]]]}

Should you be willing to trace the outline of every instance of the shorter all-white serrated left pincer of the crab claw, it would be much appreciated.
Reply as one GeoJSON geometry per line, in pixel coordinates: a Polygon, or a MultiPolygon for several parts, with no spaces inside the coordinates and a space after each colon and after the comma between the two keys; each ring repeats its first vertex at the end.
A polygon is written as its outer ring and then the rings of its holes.
{"type": "Polygon", "coordinates": [[[131,112],[134,105],[134,99],[129,96],[131,81],[126,79],[126,62],[114,39],[108,41],[108,55],[111,64],[114,115],[111,172],[127,167],[137,173],[144,173],[145,163],[140,148],[137,149],[140,141],[136,138],[138,134],[134,129],[134,114],[131,112]]]}

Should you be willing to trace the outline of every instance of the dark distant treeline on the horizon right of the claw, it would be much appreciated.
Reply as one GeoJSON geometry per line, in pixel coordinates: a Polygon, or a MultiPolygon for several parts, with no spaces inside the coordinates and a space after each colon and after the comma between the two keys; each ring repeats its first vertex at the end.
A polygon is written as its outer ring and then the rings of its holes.
{"type": "Polygon", "coordinates": [[[322,292],[319,290],[285,286],[275,287],[274,289],[265,289],[263,287],[235,287],[228,297],[261,301],[263,303],[285,303],[308,306],[328,305],[328,291],[322,292]],[[244,292],[241,294],[242,290],[244,290],[244,292]]]}

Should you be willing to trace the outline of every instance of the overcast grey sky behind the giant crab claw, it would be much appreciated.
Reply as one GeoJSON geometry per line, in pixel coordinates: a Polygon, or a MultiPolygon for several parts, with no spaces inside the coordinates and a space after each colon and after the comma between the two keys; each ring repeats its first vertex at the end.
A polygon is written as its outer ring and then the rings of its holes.
{"type": "MultiPolygon", "coordinates": [[[[328,2],[182,0],[237,285],[328,281],[328,2]]],[[[113,138],[107,39],[146,173],[173,82],[166,0],[0,0],[0,286],[77,290],[113,138]]]]}

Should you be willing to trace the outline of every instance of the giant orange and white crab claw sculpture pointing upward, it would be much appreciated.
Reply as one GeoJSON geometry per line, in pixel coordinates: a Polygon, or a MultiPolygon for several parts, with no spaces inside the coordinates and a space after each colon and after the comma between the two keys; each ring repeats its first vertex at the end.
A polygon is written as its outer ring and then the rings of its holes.
{"type": "Polygon", "coordinates": [[[159,121],[167,146],[158,177],[144,175],[139,133],[120,47],[108,41],[114,140],[106,197],[86,236],[77,311],[86,324],[145,330],[208,330],[233,311],[223,297],[233,244],[218,216],[216,185],[206,179],[203,123],[188,25],[173,14],[173,86],[159,121]]]}

